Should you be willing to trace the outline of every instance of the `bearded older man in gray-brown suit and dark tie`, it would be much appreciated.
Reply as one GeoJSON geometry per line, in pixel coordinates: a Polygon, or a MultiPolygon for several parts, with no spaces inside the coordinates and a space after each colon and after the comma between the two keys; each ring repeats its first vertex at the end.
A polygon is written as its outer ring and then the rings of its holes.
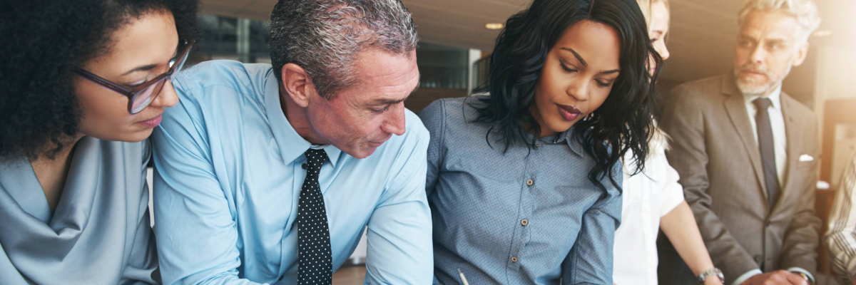
{"type": "MultiPolygon", "coordinates": [[[[782,92],[819,24],[811,0],[748,0],[734,72],[675,87],[663,128],[716,267],[727,284],[813,284],[817,119],[782,92]]],[[[695,276],[661,239],[660,282],[695,276]]]]}

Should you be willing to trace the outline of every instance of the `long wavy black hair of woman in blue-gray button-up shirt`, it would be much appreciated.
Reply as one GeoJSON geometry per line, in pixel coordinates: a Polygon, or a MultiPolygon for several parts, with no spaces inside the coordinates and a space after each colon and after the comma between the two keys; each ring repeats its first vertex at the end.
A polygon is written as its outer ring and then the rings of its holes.
{"type": "MultiPolygon", "coordinates": [[[[621,73],[603,104],[574,126],[573,139],[594,158],[588,178],[605,190],[600,181],[615,181],[613,166],[625,152],[633,152],[638,173],[645,167],[648,142],[654,133],[655,116],[660,110],[656,82],[663,59],[648,38],[645,18],[635,0],[535,0],[529,9],[517,13],[505,23],[490,56],[489,81],[474,92],[490,96],[472,104],[479,111],[474,122],[490,123],[485,139],[505,145],[535,144],[527,134],[540,134],[530,113],[535,102],[535,85],[547,54],[562,34],[575,23],[596,21],[615,28],[621,40],[621,73]],[[648,73],[649,55],[657,71],[648,73]]],[[[633,168],[632,168],[633,169],[633,168]]],[[[635,173],[634,173],[635,174],[635,173]]]]}

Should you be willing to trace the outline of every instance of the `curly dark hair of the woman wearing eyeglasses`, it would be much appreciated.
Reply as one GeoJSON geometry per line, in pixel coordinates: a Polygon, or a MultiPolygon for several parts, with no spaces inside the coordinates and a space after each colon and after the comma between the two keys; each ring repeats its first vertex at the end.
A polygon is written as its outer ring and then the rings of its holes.
{"type": "Polygon", "coordinates": [[[0,159],[53,157],[82,116],[74,66],[110,49],[112,34],[152,11],[175,16],[180,39],[197,39],[199,0],[0,1],[0,159]]]}

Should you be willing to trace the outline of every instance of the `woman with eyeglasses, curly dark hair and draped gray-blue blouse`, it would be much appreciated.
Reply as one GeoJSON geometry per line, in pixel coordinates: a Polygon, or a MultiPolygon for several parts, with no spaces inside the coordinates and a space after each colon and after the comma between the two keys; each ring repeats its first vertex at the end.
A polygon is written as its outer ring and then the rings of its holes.
{"type": "Polygon", "coordinates": [[[198,6],[0,3],[0,284],[159,282],[146,138],[198,6]]]}

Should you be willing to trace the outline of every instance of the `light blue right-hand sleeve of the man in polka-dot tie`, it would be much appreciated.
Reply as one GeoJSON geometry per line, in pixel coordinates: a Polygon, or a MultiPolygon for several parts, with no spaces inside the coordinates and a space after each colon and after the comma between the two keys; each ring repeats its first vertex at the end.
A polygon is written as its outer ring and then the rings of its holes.
{"type": "MultiPolygon", "coordinates": [[[[417,119],[416,116],[407,120],[417,119]]],[[[428,134],[419,124],[408,128],[405,145],[392,169],[366,233],[366,284],[430,284],[434,258],[431,210],[425,198],[428,134]]]]}

